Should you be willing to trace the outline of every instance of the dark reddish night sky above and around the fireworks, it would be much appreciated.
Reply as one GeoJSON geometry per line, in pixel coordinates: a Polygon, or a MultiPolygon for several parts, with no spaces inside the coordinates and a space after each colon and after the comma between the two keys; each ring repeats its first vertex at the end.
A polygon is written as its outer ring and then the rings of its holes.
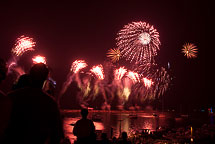
{"type": "Polygon", "coordinates": [[[174,79],[165,103],[215,103],[206,93],[207,1],[19,1],[0,2],[0,6],[0,57],[10,58],[17,37],[33,37],[37,42],[34,54],[46,56],[58,89],[75,59],[85,59],[91,65],[102,63],[107,50],[116,46],[116,34],[123,25],[146,21],[160,33],[157,62],[164,67],[171,64],[174,79]],[[181,53],[186,42],[197,45],[196,59],[181,53]]]}

